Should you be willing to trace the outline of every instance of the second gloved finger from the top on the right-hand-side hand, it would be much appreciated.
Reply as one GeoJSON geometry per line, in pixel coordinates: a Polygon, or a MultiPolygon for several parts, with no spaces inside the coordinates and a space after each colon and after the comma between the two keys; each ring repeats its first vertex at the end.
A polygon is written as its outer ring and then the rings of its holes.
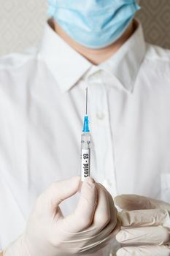
{"type": "Polygon", "coordinates": [[[123,227],[169,226],[169,211],[163,209],[121,211],[117,214],[123,227]]]}

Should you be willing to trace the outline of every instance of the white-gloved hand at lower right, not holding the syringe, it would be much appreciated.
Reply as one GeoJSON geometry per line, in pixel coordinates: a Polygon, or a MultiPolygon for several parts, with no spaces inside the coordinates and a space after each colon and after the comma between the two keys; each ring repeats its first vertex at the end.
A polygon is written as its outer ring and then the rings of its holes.
{"type": "Polygon", "coordinates": [[[169,256],[170,255],[170,205],[138,195],[115,197],[122,208],[119,219],[122,230],[117,241],[132,245],[117,252],[117,256],[169,256]],[[125,211],[126,210],[126,211],[125,211]]]}

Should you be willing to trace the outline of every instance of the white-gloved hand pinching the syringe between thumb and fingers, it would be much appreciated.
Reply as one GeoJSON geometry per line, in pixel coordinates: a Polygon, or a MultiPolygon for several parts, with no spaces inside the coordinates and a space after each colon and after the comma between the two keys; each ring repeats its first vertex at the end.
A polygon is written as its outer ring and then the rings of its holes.
{"type": "Polygon", "coordinates": [[[57,181],[40,195],[26,231],[5,249],[4,256],[82,255],[104,247],[117,230],[117,211],[104,187],[88,178],[75,211],[63,217],[59,207],[80,184],[80,177],[57,181]]]}

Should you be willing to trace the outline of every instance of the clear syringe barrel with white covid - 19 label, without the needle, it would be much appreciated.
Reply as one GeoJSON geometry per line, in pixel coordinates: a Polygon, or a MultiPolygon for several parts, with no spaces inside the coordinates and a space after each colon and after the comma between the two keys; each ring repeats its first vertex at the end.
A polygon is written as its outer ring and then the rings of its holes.
{"type": "Polygon", "coordinates": [[[81,176],[82,181],[90,177],[90,132],[84,132],[81,137],[81,176]]]}

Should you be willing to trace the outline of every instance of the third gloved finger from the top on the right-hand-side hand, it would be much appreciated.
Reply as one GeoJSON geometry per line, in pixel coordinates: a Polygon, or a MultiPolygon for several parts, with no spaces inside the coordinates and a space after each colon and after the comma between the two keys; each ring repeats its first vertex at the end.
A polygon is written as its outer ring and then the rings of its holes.
{"type": "Polygon", "coordinates": [[[167,227],[137,227],[120,230],[116,235],[120,244],[169,244],[169,229],[167,227]]]}

